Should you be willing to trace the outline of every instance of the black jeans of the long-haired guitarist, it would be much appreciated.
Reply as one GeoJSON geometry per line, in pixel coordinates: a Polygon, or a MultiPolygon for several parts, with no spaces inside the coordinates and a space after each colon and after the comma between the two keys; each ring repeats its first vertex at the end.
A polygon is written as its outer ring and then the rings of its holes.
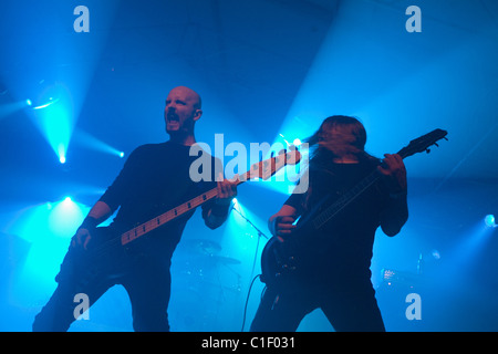
{"type": "Polygon", "coordinates": [[[370,280],[335,289],[268,288],[251,332],[294,332],[302,319],[321,309],[338,332],[385,332],[370,280]]]}

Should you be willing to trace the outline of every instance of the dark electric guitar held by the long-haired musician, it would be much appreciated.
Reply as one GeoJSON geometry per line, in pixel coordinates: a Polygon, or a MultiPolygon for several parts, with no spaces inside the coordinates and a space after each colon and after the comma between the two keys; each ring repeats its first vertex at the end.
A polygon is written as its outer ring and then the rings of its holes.
{"type": "MultiPolygon", "coordinates": [[[[438,146],[437,142],[443,138],[446,139],[446,131],[435,129],[412,140],[408,146],[402,148],[397,154],[402,158],[406,158],[417,153],[429,153],[429,147],[433,145],[438,146]]],[[[349,190],[332,205],[315,206],[305,218],[299,219],[295,229],[283,242],[273,236],[267,242],[261,253],[261,281],[267,285],[280,285],[293,281],[303,268],[301,266],[305,264],[307,260],[312,260],[313,257],[317,257],[313,247],[320,247],[318,242],[323,226],[369,189],[381,176],[375,168],[353,189],[349,190]]],[[[301,277],[305,277],[305,274],[301,273],[301,277]]]]}

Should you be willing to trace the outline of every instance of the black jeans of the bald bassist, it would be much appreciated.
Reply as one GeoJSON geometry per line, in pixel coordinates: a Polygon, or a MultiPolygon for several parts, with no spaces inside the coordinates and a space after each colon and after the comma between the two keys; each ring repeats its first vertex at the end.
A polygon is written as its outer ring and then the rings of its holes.
{"type": "MultiPolygon", "coordinates": [[[[135,331],[169,331],[167,308],[170,296],[169,263],[155,257],[136,256],[133,263],[118,277],[102,272],[82,281],[70,269],[69,253],[56,277],[58,288],[49,302],[35,316],[33,331],[65,332],[75,321],[74,310],[77,293],[87,295],[90,305],[110,288],[122,284],[132,303],[133,329],[135,331]]],[[[76,316],[77,317],[77,316],[76,316]]]]}

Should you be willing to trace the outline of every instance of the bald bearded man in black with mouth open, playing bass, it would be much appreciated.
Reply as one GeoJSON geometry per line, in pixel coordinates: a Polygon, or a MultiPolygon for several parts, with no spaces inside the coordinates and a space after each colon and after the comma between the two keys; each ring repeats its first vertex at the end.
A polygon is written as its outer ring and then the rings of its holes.
{"type": "MultiPolygon", "coordinates": [[[[189,149],[196,143],[194,131],[201,115],[201,100],[195,91],[178,86],[169,92],[164,110],[169,140],[137,147],[92,207],[71,241],[55,278],[58,288],[37,315],[33,331],[66,331],[86,306],[115,284],[123,285],[129,295],[135,331],[169,331],[172,257],[194,209],[147,231],[125,252],[120,236],[214,188],[218,188],[218,196],[203,204],[203,219],[210,229],[224,223],[236,185],[216,183],[215,176],[199,183],[189,177],[196,159],[189,149]],[[108,227],[97,227],[116,210],[108,227]]],[[[211,162],[220,164],[215,158],[211,162]]]]}

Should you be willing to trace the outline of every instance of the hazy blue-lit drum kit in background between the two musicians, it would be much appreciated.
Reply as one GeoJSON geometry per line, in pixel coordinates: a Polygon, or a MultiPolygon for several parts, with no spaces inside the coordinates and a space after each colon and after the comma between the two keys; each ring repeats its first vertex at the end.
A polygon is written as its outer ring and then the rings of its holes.
{"type": "Polygon", "coordinates": [[[238,259],[221,256],[221,246],[206,239],[184,239],[172,264],[173,292],[170,315],[178,331],[205,331],[227,320],[227,303],[238,303],[241,275],[238,259]],[[175,321],[173,321],[175,320],[175,321]]]}

